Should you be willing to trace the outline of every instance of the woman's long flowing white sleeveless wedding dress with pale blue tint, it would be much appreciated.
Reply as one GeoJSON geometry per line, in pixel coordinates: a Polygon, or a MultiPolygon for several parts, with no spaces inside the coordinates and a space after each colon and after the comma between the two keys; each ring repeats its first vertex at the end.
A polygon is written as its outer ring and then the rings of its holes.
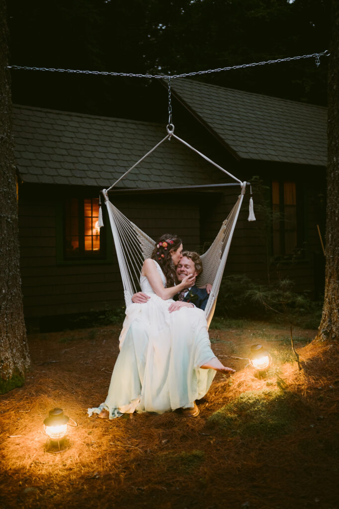
{"type": "MultiPolygon", "coordinates": [[[[165,276],[157,264],[165,287],[165,276]]],[[[192,407],[208,391],[215,371],[200,366],[215,357],[204,312],[182,307],[169,313],[172,299],[158,297],[146,276],[140,277],[147,303],[131,304],[120,334],[120,353],[106,401],[88,413],[109,410],[109,418],[123,413],[163,413],[192,407]]]]}

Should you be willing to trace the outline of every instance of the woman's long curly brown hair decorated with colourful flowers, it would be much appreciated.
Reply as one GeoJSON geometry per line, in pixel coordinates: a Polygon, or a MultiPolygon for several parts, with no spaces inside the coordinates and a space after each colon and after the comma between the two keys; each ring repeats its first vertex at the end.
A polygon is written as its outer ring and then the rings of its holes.
{"type": "Polygon", "coordinates": [[[177,235],[166,233],[161,235],[152,252],[151,258],[160,265],[166,278],[167,288],[173,287],[176,284],[176,268],[170,251],[176,251],[181,244],[182,241],[177,235]]]}

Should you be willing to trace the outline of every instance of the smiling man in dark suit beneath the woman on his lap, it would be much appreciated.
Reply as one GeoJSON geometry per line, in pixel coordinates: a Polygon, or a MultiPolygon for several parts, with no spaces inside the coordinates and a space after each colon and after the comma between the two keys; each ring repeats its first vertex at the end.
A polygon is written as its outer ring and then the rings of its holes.
{"type": "MultiPolygon", "coordinates": [[[[202,270],[203,264],[199,254],[195,251],[184,251],[182,253],[182,258],[176,268],[179,281],[182,281],[184,277],[189,274],[193,274],[197,277],[202,270]]],[[[183,305],[187,305],[189,307],[196,306],[204,310],[208,301],[209,293],[210,285],[208,285],[207,290],[205,288],[198,288],[195,285],[191,288],[185,288],[182,292],[174,296],[174,300],[176,302],[171,304],[168,310],[172,313],[173,311],[180,309],[180,307],[183,307],[183,305]]],[[[132,302],[144,303],[147,302],[149,298],[150,297],[145,293],[138,292],[132,296],[132,302]]]]}

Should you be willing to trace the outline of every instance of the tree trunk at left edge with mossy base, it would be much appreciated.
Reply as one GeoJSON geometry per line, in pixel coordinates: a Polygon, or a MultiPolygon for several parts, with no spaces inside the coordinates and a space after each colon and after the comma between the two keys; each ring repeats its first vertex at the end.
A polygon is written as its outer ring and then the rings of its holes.
{"type": "Polygon", "coordinates": [[[8,54],[6,1],[0,0],[0,393],[21,386],[30,365],[21,294],[8,54]]]}

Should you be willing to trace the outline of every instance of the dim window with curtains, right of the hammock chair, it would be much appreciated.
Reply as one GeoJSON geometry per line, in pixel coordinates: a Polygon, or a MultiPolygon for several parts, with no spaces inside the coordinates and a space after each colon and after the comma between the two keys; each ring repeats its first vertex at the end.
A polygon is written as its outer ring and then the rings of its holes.
{"type": "Polygon", "coordinates": [[[293,254],[297,245],[295,182],[272,182],[273,255],[293,254]]]}

